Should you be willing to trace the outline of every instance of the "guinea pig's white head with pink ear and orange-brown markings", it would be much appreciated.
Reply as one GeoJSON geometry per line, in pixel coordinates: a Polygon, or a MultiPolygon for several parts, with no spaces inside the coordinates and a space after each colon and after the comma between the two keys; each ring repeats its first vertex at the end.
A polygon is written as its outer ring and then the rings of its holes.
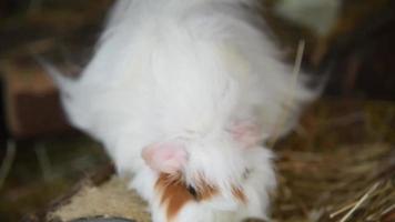
{"type": "Polygon", "coordinates": [[[143,158],[159,174],[155,194],[169,221],[266,216],[275,176],[272,154],[262,147],[245,149],[226,138],[179,140],[150,145],[143,158]]]}

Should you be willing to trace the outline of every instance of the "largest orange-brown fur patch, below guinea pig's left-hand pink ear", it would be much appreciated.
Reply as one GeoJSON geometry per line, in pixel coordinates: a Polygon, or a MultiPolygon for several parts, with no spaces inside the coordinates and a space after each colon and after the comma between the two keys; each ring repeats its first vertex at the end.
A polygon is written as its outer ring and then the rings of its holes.
{"type": "Polygon", "coordinates": [[[210,200],[219,191],[200,180],[199,190],[193,195],[181,175],[161,174],[156,181],[156,190],[161,193],[161,204],[166,205],[166,216],[171,221],[176,213],[190,201],[210,200]]]}

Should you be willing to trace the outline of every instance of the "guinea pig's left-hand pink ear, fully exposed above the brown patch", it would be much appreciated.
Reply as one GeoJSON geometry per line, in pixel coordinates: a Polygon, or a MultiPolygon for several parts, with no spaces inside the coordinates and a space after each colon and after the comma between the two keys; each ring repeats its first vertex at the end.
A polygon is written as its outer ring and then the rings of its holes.
{"type": "Polygon", "coordinates": [[[179,141],[151,144],[144,148],[141,154],[152,170],[168,174],[179,172],[188,159],[184,144],[179,141]]]}

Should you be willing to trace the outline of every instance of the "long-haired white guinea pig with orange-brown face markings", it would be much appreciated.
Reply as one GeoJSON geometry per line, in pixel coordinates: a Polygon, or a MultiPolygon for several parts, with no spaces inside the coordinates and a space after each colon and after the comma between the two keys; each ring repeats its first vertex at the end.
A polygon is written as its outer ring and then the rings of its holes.
{"type": "Polygon", "coordinates": [[[263,144],[316,93],[278,59],[256,7],[118,0],[80,78],[47,65],[71,123],[133,175],[154,222],[269,219],[276,180],[263,144]]]}

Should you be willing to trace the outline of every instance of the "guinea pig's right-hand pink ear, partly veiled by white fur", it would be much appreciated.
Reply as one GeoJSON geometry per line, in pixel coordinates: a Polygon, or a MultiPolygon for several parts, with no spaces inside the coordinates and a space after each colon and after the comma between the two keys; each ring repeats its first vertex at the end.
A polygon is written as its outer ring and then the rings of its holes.
{"type": "Polygon", "coordinates": [[[232,133],[233,139],[244,148],[259,145],[263,140],[259,125],[250,121],[234,122],[229,131],[232,133]]]}

